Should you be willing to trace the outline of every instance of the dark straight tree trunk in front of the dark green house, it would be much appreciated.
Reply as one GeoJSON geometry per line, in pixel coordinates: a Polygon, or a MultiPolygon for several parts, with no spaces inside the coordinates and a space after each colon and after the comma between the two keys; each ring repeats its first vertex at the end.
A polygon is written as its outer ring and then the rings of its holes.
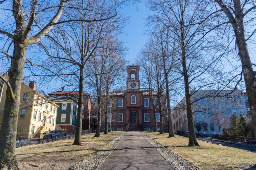
{"type": "Polygon", "coordinates": [[[73,145],[82,145],[81,135],[82,135],[82,114],[83,114],[83,84],[84,84],[84,67],[82,66],[80,68],[76,134],[75,134],[73,145]]]}

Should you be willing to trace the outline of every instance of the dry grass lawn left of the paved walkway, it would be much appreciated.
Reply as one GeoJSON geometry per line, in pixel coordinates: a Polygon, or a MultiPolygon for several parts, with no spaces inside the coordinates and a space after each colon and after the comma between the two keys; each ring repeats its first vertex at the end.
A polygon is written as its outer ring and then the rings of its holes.
{"type": "Polygon", "coordinates": [[[17,148],[16,155],[21,163],[27,164],[26,169],[68,169],[122,133],[101,133],[100,138],[93,138],[94,133],[83,135],[82,146],[72,145],[74,138],[26,146],[17,148]]]}

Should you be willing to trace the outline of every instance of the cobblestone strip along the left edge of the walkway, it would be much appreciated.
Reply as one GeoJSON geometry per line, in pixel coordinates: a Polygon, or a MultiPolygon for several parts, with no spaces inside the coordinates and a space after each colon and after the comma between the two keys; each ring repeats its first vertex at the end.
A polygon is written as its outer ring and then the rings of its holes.
{"type": "Polygon", "coordinates": [[[105,161],[105,159],[108,158],[110,153],[115,149],[115,147],[119,144],[119,142],[123,140],[125,134],[126,133],[123,133],[116,137],[110,143],[106,144],[103,150],[91,154],[81,162],[71,166],[69,169],[98,169],[100,165],[105,161]]]}

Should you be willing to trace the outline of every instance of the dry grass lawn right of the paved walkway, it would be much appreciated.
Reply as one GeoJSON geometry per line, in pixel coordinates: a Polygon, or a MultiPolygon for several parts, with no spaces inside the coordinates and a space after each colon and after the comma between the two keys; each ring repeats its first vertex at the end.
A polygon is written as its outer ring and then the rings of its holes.
{"type": "Polygon", "coordinates": [[[256,163],[256,153],[253,152],[200,140],[198,142],[201,147],[187,147],[187,137],[175,135],[176,138],[167,138],[168,134],[145,133],[201,169],[241,169],[256,163]]]}

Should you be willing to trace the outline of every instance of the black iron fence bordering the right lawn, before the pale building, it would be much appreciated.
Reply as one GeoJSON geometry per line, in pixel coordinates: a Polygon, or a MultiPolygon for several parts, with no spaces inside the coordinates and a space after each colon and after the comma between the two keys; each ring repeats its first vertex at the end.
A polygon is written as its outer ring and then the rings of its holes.
{"type": "MultiPolygon", "coordinates": [[[[177,131],[177,135],[188,137],[188,132],[177,131]]],[[[223,146],[229,146],[239,148],[243,150],[249,150],[256,152],[256,141],[252,139],[234,138],[218,135],[196,134],[196,138],[202,141],[221,144],[223,146]]]]}

